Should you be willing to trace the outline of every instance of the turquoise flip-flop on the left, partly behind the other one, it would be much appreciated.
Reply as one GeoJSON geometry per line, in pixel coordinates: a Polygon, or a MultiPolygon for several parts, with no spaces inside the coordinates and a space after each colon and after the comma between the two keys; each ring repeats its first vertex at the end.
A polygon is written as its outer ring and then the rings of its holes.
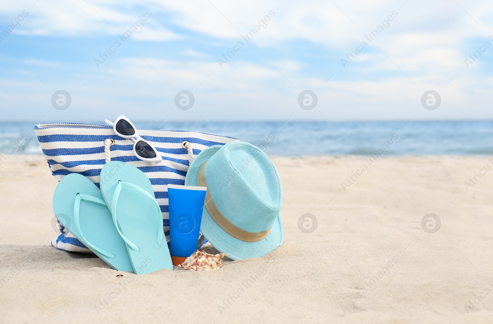
{"type": "Polygon", "coordinates": [[[62,225],[110,267],[133,271],[125,242],[113,225],[101,191],[81,174],[60,180],[53,194],[53,211],[62,225]]]}

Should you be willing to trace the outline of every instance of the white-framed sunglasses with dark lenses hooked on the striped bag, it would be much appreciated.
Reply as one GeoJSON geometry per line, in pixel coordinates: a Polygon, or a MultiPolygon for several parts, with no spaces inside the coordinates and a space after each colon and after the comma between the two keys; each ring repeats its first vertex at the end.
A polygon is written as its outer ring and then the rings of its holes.
{"type": "Polygon", "coordinates": [[[163,161],[159,152],[143,139],[137,132],[134,124],[125,116],[120,115],[111,123],[105,119],[106,124],[113,126],[113,131],[120,137],[130,138],[134,142],[134,154],[142,161],[156,162],[163,161]]]}

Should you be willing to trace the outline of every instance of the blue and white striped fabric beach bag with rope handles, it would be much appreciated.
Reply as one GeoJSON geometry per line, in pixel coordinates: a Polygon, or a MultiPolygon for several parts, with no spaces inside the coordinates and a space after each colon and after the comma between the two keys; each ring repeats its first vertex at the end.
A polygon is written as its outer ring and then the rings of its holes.
{"type": "MultiPolygon", "coordinates": [[[[99,188],[99,175],[106,161],[121,161],[138,167],[149,178],[163,215],[163,229],[170,241],[168,184],[184,185],[193,157],[212,145],[238,140],[234,137],[185,130],[139,130],[143,139],[161,153],[163,161],[146,162],[133,151],[132,139],[116,135],[111,126],[63,123],[34,127],[51,173],[60,181],[80,173],[99,188]]],[[[63,251],[92,253],[58,222],[61,234],[51,244],[63,251]]]]}

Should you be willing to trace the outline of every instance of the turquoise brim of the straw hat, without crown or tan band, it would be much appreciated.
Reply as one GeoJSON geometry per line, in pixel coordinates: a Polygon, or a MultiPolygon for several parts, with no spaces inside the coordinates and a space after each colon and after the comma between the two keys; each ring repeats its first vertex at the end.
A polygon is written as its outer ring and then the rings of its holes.
{"type": "MultiPolygon", "coordinates": [[[[222,145],[213,145],[199,153],[190,164],[185,177],[185,186],[197,186],[197,175],[204,162],[209,160],[222,145]]],[[[218,206],[220,209],[220,206],[218,206]]],[[[227,217],[227,215],[225,215],[227,217]]],[[[260,258],[282,244],[283,230],[281,214],[278,214],[271,231],[266,238],[258,242],[244,242],[228,234],[217,225],[206,208],[202,213],[200,231],[209,242],[221,253],[227,253],[233,260],[260,258]]]]}

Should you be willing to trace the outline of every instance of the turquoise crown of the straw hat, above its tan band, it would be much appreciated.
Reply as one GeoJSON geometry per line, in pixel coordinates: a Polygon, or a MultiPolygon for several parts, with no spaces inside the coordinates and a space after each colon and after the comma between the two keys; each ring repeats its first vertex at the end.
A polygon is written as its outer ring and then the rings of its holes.
{"type": "Polygon", "coordinates": [[[204,177],[217,209],[236,227],[252,233],[272,227],[282,185],[264,152],[249,143],[228,143],[209,159],[204,177]]]}

